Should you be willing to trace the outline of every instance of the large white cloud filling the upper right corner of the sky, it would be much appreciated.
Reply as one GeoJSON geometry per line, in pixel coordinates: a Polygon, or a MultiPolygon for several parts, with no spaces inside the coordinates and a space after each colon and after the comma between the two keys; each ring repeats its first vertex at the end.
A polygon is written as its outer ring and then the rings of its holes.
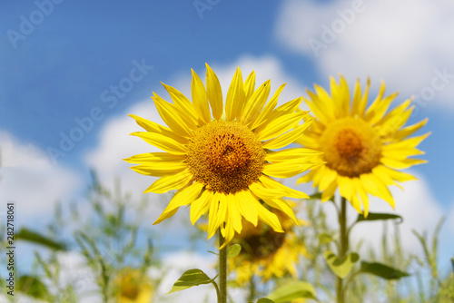
{"type": "Polygon", "coordinates": [[[289,0],[281,8],[276,37],[314,58],[323,77],[370,76],[375,85],[383,79],[390,91],[415,94],[421,107],[454,110],[453,9],[449,0],[289,0]]]}

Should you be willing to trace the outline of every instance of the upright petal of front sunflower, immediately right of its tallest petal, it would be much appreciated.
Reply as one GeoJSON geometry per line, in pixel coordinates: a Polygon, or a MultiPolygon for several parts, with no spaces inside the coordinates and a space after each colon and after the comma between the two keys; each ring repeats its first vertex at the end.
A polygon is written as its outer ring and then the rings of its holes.
{"type": "Polygon", "coordinates": [[[240,67],[236,69],[230,84],[227,98],[225,101],[225,114],[227,121],[233,121],[242,112],[244,103],[244,89],[242,84],[242,71],[240,67]]]}

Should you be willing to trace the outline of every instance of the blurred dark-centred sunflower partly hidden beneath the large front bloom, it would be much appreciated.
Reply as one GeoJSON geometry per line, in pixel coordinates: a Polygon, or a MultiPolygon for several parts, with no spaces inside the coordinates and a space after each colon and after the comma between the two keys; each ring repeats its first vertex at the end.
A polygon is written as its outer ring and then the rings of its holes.
{"type": "MultiPolygon", "coordinates": [[[[243,223],[242,233],[232,242],[242,246],[240,254],[229,259],[229,269],[236,272],[236,282],[244,285],[253,276],[267,281],[271,278],[281,278],[291,274],[297,278],[295,265],[301,255],[310,257],[301,239],[294,233],[294,222],[280,210],[273,210],[282,223],[285,233],[277,233],[259,222],[254,227],[249,222],[243,223]]],[[[299,220],[300,224],[306,222],[299,220]]]]}

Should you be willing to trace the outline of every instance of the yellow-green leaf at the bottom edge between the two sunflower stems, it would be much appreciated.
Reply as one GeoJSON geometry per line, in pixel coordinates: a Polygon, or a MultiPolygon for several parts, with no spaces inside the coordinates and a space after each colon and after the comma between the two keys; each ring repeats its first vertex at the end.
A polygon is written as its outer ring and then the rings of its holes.
{"type": "MultiPolygon", "coordinates": [[[[268,299],[274,303],[285,303],[295,298],[316,298],[315,288],[308,282],[291,282],[275,289],[268,296],[268,299]]],[[[267,301],[263,301],[263,303],[265,302],[267,301]]]]}

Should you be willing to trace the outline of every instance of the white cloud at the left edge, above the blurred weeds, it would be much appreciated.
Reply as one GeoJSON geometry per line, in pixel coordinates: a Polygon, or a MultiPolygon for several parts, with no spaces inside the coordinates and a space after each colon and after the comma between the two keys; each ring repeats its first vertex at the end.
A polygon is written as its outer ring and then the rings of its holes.
{"type": "Polygon", "coordinates": [[[2,200],[15,201],[19,222],[52,215],[56,200],[73,197],[79,190],[80,177],[64,166],[53,165],[35,145],[4,131],[0,131],[0,142],[0,192],[2,200]]]}

